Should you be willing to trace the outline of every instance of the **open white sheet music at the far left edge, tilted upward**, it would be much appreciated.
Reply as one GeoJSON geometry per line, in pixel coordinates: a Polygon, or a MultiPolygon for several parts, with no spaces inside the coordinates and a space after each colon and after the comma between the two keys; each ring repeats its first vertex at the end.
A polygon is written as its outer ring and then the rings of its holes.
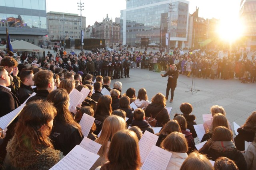
{"type": "Polygon", "coordinates": [[[14,121],[14,119],[20,114],[20,112],[22,111],[23,107],[25,105],[22,104],[20,107],[18,107],[17,109],[11,111],[10,113],[4,115],[3,117],[0,117],[0,127],[1,129],[5,129],[6,127],[8,127],[12,121],[14,121]]]}

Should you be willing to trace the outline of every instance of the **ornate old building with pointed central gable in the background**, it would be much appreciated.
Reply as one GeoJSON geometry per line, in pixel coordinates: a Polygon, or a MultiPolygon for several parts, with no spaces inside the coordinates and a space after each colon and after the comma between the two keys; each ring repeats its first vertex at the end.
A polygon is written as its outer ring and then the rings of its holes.
{"type": "MultiPolygon", "coordinates": [[[[120,44],[120,23],[113,22],[107,17],[102,22],[95,22],[92,27],[92,38],[105,39],[106,46],[120,44]]],[[[88,30],[88,29],[87,29],[88,30]]],[[[90,29],[88,30],[90,31],[90,29]]]]}

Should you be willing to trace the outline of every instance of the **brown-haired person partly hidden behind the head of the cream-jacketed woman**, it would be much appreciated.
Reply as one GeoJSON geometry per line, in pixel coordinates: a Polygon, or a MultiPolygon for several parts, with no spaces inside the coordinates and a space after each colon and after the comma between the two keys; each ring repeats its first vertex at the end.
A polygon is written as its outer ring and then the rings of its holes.
{"type": "Polygon", "coordinates": [[[158,140],[156,142],[156,146],[160,147],[162,141],[164,141],[164,139],[170,135],[172,132],[181,132],[180,129],[180,125],[178,123],[178,121],[176,120],[170,120],[168,121],[164,127],[161,129],[161,131],[159,133],[157,133],[156,135],[158,136],[158,140]]]}

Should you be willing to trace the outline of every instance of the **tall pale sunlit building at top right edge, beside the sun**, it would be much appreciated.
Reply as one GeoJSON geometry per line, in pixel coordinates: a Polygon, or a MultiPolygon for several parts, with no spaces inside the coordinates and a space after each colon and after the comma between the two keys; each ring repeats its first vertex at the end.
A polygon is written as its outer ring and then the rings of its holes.
{"type": "Polygon", "coordinates": [[[244,22],[245,47],[256,50],[256,0],[241,0],[240,18],[244,22]]]}

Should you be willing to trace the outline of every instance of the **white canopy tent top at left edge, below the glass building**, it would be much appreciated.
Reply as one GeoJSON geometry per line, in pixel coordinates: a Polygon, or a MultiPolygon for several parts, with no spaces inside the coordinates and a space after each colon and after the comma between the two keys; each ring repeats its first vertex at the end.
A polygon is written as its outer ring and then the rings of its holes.
{"type": "MultiPolygon", "coordinates": [[[[0,47],[0,49],[6,49],[6,45],[3,45],[2,47],[0,47]]],[[[44,52],[44,49],[23,40],[13,41],[12,49],[13,49],[13,52],[16,52],[16,51],[26,51],[26,52],[36,52],[36,53],[44,52]]]]}

